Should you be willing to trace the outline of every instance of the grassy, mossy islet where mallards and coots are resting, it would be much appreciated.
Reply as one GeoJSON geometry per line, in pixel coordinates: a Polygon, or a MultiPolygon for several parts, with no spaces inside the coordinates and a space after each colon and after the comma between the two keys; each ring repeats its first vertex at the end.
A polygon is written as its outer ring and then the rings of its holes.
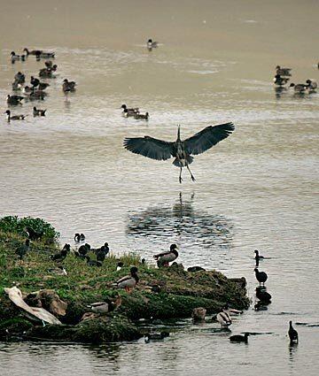
{"type": "Polygon", "coordinates": [[[143,335],[138,325],[142,319],[191,318],[198,307],[214,315],[225,303],[237,310],[249,306],[245,278],[228,279],[216,271],[187,272],[177,263],[157,268],[142,263],[135,254],[108,255],[97,267],[87,265],[71,250],[63,261],[67,274],[55,274],[60,264],[50,256],[61,249],[58,235],[43,219],[0,219],[0,340],[131,341],[143,335]],[[20,260],[16,251],[26,242],[26,226],[42,236],[30,242],[20,260]],[[119,262],[123,263],[120,271],[119,262]],[[136,288],[128,293],[114,287],[113,283],[128,274],[132,266],[138,269],[136,288]],[[17,307],[4,291],[14,286],[30,307],[42,307],[62,324],[45,323],[17,307]],[[105,314],[88,308],[106,299],[120,299],[121,303],[105,314]]]}

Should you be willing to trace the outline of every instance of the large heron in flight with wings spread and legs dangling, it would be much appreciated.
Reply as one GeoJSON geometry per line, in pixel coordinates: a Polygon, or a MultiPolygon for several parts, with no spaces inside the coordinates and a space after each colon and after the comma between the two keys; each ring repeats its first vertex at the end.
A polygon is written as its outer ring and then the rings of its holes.
{"type": "MultiPolygon", "coordinates": [[[[218,126],[209,126],[194,134],[186,140],[181,140],[180,126],[177,130],[177,140],[167,142],[152,138],[148,135],[144,137],[125,138],[124,148],[135,154],[141,154],[157,160],[166,160],[175,157],[173,165],[180,167],[179,181],[182,183],[182,168],[186,167],[191,173],[189,165],[193,161],[191,154],[197,155],[212,148],[216,143],[227,138],[235,129],[232,123],[220,124],[218,126]]],[[[195,181],[191,173],[191,180],[195,181]]]]}

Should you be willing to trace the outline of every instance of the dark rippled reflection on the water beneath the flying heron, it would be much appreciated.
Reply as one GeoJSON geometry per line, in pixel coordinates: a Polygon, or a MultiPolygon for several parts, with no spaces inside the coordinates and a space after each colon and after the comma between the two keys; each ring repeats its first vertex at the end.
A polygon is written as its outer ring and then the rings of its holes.
{"type": "Polygon", "coordinates": [[[194,208],[195,195],[184,199],[182,193],[172,207],[166,205],[128,212],[126,232],[129,236],[151,237],[167,242],[167,237],[191,241],[203,248],[230,249],[233,225],[220,214],[209,214],[194,208]]]}

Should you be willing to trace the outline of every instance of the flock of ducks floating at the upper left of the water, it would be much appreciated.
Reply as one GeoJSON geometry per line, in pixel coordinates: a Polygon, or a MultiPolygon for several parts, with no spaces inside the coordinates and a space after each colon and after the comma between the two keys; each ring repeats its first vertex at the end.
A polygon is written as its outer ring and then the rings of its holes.
{"type": "MultiPolygon", "coordinates": [[[[40,69],[38,76],[39,78],[36,78],[35,76],[30,76],[30,86],[26,85],[26,75],[24,73],[18,72],[14,75],[14,80],[12,82],[12,91],[15,93],[21,93],[24,94],[18,95],[10,95],[8,94],[6,103],[10,107],[16,107],[23,104],[25,101],[43,101],[44,98],[48,96],[48,93],[45,91],[46,88],[50,87],[49,82],[43,82],[41,80],[47,80],[47,79],[56,79],[57,76],[54,74],[57,69],[58,65],[53,64],[52,60],[55,58],[54,52],[48,52],[43,50],[27,50],[25,48],[23,50],[23,54],[16,55],[14,51],[11,53],[11,62],[12,64],[15,64],[16,61],[21,61],[26,63],[27,58],[29,56],[35,56],[35,59],[37,61],[40,61],[41,59],[45,59],[44,67],[40,69]]],[[[75,91],[76,83],[74,81],[68,81],[65,79],[62,82],[62,90],[67,95],[69,92],[75,91]]],[[[42,117],[46,115],[46,109],[42,110],[39,108],[36,108],[34,106],[33,108],[33,116],[34,117],[42,117]]],[[[25,120],[27,118],[27,114],[12,114],[11,110],[6,110],[4,112],[6,114],[6,119],[8,122],[11,120],[25,120]]]]}

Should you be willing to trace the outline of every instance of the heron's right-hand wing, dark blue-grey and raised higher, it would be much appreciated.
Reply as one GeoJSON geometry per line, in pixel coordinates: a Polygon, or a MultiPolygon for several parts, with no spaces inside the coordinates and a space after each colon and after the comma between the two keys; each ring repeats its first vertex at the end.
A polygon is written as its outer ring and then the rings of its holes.
{"type": "Polygon", "coordinates": [[[200,154],[210,149],[216,143],[227,138],[235,129],[233,123],[220,124],[219,126],[209,126],[184,140],[185,150],[189,154],[200,154]]]}

